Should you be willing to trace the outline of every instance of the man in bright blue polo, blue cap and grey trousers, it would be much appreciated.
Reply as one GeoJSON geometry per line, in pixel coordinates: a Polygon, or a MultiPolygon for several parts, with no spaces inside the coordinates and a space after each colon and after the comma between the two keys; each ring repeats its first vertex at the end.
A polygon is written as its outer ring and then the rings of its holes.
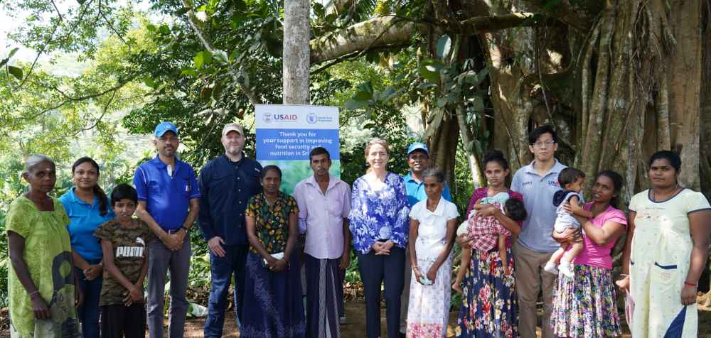
{"type": "Polygon", "coordinates": [[[170,122],[156,126],[153,144],[158,156],[136,169],[137,216],[149,225],[159,241],[152,241],[148,262],[148,330],[151,338],[163,337],[166,273],[171,271],[169,337],[181,338],[188,312],[188,231],[200,212],[200,188],[188,163],[176,158],[178,128],[170,122]]]}

